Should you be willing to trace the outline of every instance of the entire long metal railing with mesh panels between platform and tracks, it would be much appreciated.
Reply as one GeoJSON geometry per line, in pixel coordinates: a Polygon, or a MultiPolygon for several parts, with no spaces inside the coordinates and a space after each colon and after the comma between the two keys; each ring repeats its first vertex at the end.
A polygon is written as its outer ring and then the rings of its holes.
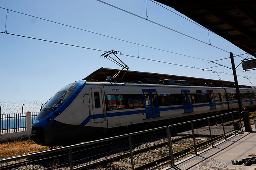
{"type": "MultiPolygon", "coordinates": [[[[214,143],[226,139],[228,135],[237,134],[241,123],[239,112],[234,111],[168,127],[1,159],[0,164],[26,158],[25,163],[20,162],[18,165],[20,169],[103,169],[105,166],[132,170],[149,166],[157,168],[159,162],[174,165],[175,160],[182,156],[214,146],[214,143]],[[38,157],[40,160],[36,160],[38,157]]],[[[0,169],[4,168],[6,166],[0,166],[0,169]]]]}

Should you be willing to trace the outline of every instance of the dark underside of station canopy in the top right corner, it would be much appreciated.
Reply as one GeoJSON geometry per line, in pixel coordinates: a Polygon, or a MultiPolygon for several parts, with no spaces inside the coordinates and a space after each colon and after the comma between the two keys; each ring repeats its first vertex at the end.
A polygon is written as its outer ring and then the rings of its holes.
{"type": "Polygon", "coordinates": [[[156,0],[256,57],[256,0],[156,0]]]}

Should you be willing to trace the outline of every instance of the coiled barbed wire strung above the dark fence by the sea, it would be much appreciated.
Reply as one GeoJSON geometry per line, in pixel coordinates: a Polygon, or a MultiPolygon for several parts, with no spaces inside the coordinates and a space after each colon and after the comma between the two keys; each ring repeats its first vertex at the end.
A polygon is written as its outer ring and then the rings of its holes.
{"type": "Polygon", "coordinates": [[[21,102],[0,102],[0,114],[10,114],[10,113],[26,113],[39,112],[43,103],[46,101],[35,100],[35,101],[21,101],[21,102]]]}

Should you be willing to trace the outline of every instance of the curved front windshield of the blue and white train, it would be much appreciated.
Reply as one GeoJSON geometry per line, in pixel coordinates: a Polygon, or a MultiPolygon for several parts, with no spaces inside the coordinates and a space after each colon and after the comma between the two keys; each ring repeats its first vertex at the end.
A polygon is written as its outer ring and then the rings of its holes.
{"type": "Polygon", "coordinates": [[[46,104],[44,105],[44,107],[42,107],[42,109],[46,109],[46,108],[56,109],[57,107],[59,107],[74,92],[77,85],[78,85],[77,83],[72,83],[61,88],[56,94],[54,94],[52,98],[50,98],[48,102],[46,102],[46,104]]]}

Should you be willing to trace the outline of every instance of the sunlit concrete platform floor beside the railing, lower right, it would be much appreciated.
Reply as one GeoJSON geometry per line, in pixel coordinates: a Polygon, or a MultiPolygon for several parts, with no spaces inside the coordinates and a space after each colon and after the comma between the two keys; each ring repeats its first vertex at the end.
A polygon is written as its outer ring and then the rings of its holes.
{"type": "MultiPolygon", "coordinates": [[[[240,132],[233,135],[214,147],[202,150],[197,155],[192,155],[175,163],[175,167],[166,167],[162,170],[203,170],[209,169],[212,165],[219,169],[243,169],[254,170],[256,164],[251,166],[232,165],[231,160],[250,158],[249,154],[256,154],[256,131],[252,125],[252,133],[240,132]]],[[[215,168],[211,168],[215,169],[215,168]]]]}

